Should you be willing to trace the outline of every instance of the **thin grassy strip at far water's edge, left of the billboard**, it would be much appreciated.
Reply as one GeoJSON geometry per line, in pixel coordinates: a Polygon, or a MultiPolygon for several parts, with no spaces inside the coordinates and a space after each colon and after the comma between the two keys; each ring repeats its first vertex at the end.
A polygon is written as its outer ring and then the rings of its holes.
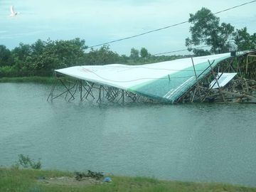
{"type": "Polygon", "coordinates": [[[0,78],[0,82],[38,82],[38,83],[53,83],[53,77],[17,77],[17,78],[0,78]]]}

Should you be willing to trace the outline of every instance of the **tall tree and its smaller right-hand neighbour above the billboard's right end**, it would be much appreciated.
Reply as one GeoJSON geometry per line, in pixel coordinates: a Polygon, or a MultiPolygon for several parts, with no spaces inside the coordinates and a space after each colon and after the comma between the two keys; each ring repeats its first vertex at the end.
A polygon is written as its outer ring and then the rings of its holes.
{"type": "Polygon", "coordinates": [[[230,43],[234,42],[238,50],[256,48],[256,33],[250,36],[247,28],[237,29],[230,23],[221,23],[209,9],[202,8],[196,14],[190,14],[188,20],[192,24],[189,31],[191,38],[186,38],[188,50],[193,50],[195,55],[209,55],[210,53],[226,53],[230,51],[230,43]],[[204,45],[210,49],[192,48],[204,45]]]}

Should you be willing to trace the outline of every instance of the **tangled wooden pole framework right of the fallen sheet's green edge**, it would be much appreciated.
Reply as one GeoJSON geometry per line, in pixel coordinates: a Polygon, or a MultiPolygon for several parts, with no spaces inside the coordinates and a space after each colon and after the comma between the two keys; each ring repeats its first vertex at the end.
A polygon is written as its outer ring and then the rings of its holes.
{"type": "MultiPolygon", "coordinates": [[[[227,58],[213,68],[208,60],[210,73],[205,78],[196,81],[177,102],[246,102],[256,103],[256,51],[227,58]],[[250,70],[248,70],[250,66],[250,70]],[[250,72],[249,72],[250,71],[250,72]],[[220,75],[217,78],[217,75],[220,75]],[[237,73],[235,78],[225,87],[220,87],[218,80],[223,73],[237,73]],[[215,80],[218,85],[213,89],[210,82],[215,80]]],[[[196,73],[196,71],[195,71],[196,73]]]]}

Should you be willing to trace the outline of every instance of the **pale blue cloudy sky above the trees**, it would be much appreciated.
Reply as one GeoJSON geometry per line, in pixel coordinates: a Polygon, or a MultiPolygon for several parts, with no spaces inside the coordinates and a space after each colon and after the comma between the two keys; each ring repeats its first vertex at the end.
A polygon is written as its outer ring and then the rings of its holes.
{"type": "MultiPolygon", "coordinates": [[[[213,13],[252,0],[0,0],[0,45],[13,49],[19,43],[81,38],[87,46],[134,36],[188,21],[202,7],[213,13]],[[10,6],[20,12],[10,17],[10,6]]],[[[256,2],[216,16],[235,28],[256,33],[256,2]]],[[[190,23],[110,44],[119,55],[131,48],[163,53],[186,49],[190,23]]],[[[100,48],[100,47],[97,47],[100,48]]],[[[175,54],[186,54],[179,52],[175,54]]]]}

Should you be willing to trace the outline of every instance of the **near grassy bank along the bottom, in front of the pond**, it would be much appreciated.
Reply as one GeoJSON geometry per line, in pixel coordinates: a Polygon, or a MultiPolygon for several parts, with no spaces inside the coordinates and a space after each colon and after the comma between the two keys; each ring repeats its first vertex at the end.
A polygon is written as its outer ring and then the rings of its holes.
{"type": "Polygon", "coordinates": [[[0,168],[0,191],[256,191],[256,188],[219,183],[159,181],[154,178],[111,176],[111,183],[82,184],[82,181],[54,183],[74,174],[61,171],[0,168]]]}

